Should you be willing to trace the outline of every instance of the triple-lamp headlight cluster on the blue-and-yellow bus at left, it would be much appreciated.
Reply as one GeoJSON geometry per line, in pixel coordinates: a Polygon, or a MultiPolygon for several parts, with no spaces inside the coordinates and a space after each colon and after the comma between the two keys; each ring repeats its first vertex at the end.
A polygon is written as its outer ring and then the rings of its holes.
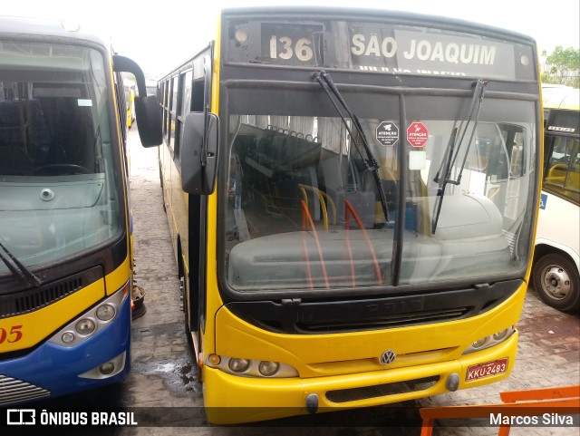
{"type": "MultiPolygon", "coordinates": [[[[93,334],[111,324],[117,317],[123,298],[129,295],[128,289],[129,282],[112,296],[102,301],[101,304],[92,307],[78,319],[64,326],[58,333],[53,335],[50,342],[71,347],[89,339],[93,334]]],[[[106,368],[105,371],[107,371],[106,368]]]]}

